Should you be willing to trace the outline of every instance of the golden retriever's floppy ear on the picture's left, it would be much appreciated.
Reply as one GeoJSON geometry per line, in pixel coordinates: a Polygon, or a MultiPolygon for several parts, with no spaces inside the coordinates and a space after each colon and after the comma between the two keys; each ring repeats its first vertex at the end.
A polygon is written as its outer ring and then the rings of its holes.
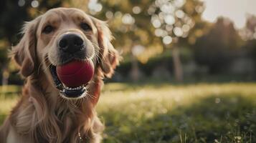
{"type": "Polygon", "coordinates": [[[29,21],[24,24],[22,30],[22,39],[19,44],[14,46],[11,51],[11,56],[17,64],[21,67],[20,73],[24,77],[29,77],[34,71],[34,66],[37,60],[36,46],[37,46],[37,25],[39,18],[29,21]]]}

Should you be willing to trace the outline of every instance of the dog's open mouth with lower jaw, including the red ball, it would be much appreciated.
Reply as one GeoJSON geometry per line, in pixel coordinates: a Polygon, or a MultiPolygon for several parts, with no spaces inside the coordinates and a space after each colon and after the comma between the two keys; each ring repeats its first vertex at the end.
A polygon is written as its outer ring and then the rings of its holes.
{"type": "Polygon", "coordinates": [[[73,60],[61,66],[50,66],[57,89],[68,98],[77,98],[86,92],[85,86],[93,78],[93,61],[73,60]]]}

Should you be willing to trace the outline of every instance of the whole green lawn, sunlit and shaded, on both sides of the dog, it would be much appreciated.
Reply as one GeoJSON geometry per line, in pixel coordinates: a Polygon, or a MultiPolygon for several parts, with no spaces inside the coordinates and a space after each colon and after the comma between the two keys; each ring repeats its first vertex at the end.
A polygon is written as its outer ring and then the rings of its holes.
{"type": "Polygon", "coordinates": [[[256,142],[256,83],[106,84],[97,110],[104,142],[256,142]]]}

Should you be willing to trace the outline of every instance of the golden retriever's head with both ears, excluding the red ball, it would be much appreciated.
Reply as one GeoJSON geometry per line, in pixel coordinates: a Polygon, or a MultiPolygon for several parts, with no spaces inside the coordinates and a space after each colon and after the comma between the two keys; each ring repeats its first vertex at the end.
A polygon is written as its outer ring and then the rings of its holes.
{"type": "Polygon", "coordinates": [[[21,41],[12,49],[20,73],[29,77],[43,72],[63,97],[85,97],[92,81],[82,87],[67,87],[57,77],[56,66],[72,60],[90,60],[95,73],[100,71],[111,77],[118,64],[118,52],[110,43],[112,36],[107,24],[80,9],[51,9],[27,22],[23,32],[21,41]]]}

